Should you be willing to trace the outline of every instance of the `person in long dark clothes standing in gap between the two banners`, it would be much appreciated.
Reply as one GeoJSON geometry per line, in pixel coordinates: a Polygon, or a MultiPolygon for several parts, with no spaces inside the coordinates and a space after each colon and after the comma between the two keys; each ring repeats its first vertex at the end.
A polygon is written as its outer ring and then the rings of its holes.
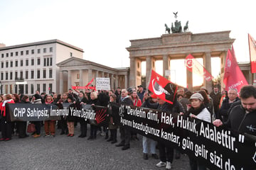
{"type": "Polygon", "coordinates": [[[110,129],[110,138],[107,142],[112,144],[117,142],[117,128],[118,128],[118,117],[119,117],[119,109],[117,107],[112,107],[111,103],[116,103],[117,96],[115,94],[110,94],[110,102],[108,104],[108,111],[110,114],[110,122],[108,128],[110,129]]]}

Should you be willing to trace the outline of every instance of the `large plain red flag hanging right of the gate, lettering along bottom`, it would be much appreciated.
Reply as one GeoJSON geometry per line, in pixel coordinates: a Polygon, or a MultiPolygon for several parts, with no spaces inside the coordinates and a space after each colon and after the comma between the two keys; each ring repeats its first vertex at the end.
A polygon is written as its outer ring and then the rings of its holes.
{"type": "Polygon", "coordinates": [[[242,86],[247,85],[247,81],[238,66],[238,62],[235,59],[235,50],[232,47],[232,52],[228,50],[226,62],[225,62],[225,70],[224,70],[224,78],[223,82],[225,84],[225,90],[228,91],[230,89],[237,89],[238,93],[242,86]]]}

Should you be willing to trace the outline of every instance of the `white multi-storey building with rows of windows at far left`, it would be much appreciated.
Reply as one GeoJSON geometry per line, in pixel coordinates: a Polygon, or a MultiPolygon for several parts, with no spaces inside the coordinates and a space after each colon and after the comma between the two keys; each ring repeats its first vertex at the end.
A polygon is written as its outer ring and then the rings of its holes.
{"type": "Polygon", "coordinates": [[[82,58],[83,50],[60,40],[0,47],[0,94],[59,92],[58,62],[82,58]]]}

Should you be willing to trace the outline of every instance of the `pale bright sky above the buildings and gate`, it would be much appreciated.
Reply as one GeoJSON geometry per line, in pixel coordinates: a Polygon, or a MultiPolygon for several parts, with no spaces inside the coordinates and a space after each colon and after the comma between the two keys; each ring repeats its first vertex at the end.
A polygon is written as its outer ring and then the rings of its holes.
{"type": "MultiPolygon", "coordinates": [[[[231,30],[238,62],[249,62],[247,34],[256,39],[253,2],[1,0],[0,43],[10,46],[58,39],[82,48],[85,60],[114,68],[129,67],[129,40],[161,37],[164,23],[171,27],[173,12],[178,11],[177,20],[182,26],[189,21],[191,33],[231,30]]],[[[177,64],[171,65],[179,72],[177,64]]],[[[213,72],[215,75],[218,71],[213,72]]]]}

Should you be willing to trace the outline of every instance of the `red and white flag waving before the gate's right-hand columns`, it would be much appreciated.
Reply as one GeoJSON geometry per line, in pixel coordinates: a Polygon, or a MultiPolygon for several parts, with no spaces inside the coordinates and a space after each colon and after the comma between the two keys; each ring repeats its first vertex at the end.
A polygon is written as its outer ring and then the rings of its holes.
{"type": "Polygon", "coordinates": [[[200,62],[198,62],[193,55],[188,55],[185,59],[185,65],[189,72],[193,72],[203,76],[206,81],[210,81],[213,79],[213,76],[207,71],[205,67],[203,67],[200,62]]]}

